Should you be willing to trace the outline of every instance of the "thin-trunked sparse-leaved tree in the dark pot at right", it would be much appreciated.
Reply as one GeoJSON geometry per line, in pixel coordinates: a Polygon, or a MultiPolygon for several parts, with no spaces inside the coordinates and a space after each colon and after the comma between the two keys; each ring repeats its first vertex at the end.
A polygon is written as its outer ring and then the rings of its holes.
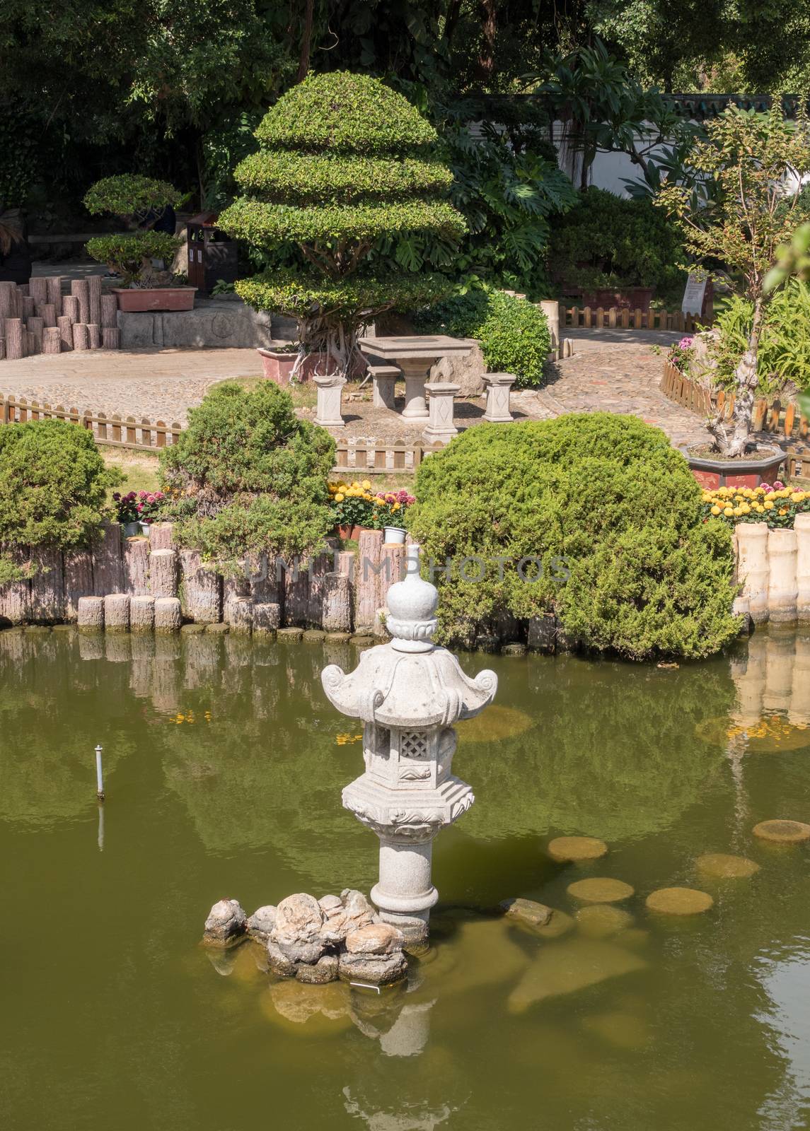
{"type": "Polygon", "coordinates": [[[706,131],[689,162],[713,182],[710,198],[666,184],[657,200],[678,219],[687,249],[698,260],[721,260],[743,277],[744,297],[752,305],[748,343],[734,371],[731,428],[719,416],[709,422],[719,451],[733,457],[744,455],[751,433],[757,352],[773,294],[766,278],[782,245],[808,218],[800,185],[810,171],[810,133],[803,113],[795,122],[783,116],[778,98],[767,114],[729,106],[706,131]]]}

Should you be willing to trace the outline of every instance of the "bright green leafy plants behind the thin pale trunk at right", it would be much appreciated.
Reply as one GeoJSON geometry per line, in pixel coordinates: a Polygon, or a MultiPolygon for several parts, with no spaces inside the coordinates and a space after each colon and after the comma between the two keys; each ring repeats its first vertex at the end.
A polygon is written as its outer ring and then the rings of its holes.
{"type": "MultiPolygon", "coordinates": [[[[753,303],[740,295],[731,296],[715,319],[719,338],[710,354],[715,379],[725,389],[734,388],[752,321],[753,303]]],[[[757,395],[776,396],[789,383],[810,392],[810,285],[800,282],[778,290],[768,303],[757,351],[757,395]]]]}

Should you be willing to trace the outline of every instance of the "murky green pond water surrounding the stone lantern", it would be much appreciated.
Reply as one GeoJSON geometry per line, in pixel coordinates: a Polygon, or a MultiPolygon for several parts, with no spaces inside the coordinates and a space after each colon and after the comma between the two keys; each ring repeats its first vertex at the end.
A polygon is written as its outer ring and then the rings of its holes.
{"type": "Polygon", "coordinates": [[[500,680],[459,726],[476,803],[436,843],[431,950],[380,995],[276,982],[252,943],[199,946],[219,898],[250,913],[374,882],[377,840],[341,808],[359,729],[319,680],[356,656],[0,633],[0,1125],[808,1125],[810,847],[751,830],[810,821],[810,634],[760,631],[677,670],[463,657],[500,680]],[[610,852],[555,863],[567,834],[610,852]],[[713,880],[708,853],[759,870],[713,880]],[[634,888],[629,917],[576,920],[567,889],[591,877],[634,888]],[[672,886],[714,906],[648,912],[672,886]],[[569,930],[494,914],[512,896],[569,930]]]}

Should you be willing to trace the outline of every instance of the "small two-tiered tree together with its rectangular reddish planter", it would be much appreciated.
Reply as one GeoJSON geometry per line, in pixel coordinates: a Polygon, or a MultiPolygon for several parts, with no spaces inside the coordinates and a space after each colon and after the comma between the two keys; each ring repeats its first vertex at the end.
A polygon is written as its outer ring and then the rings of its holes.
{"type": "Polygon", "coordinates": [[[184,285],[171,270],[181,242],[174,235],[174,206],[180,199],[166,181],[130,175],[106,176],[85,195],[91,214],[112,213],[132,230],[87,241],[87,253],[121,276],[123,285],[113,287],[119,310],[193,308],[197,287],[184,285]]]}

